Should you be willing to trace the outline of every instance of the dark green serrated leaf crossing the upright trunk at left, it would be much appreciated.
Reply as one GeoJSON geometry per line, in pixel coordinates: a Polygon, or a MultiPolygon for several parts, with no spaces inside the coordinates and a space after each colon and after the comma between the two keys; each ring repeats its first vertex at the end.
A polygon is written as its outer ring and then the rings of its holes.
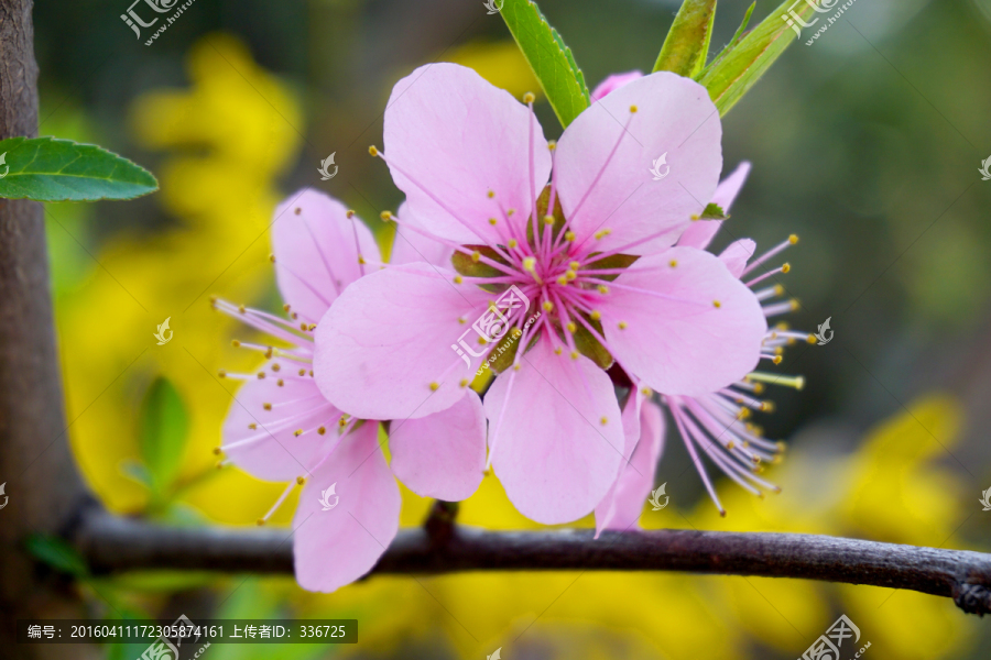
{"type": "Polygon", "coordinates": [[[8,199],[132,199],[159,189],[151,173],[127,158],[54,138],[0,141],[0,197],[8,199]]]}

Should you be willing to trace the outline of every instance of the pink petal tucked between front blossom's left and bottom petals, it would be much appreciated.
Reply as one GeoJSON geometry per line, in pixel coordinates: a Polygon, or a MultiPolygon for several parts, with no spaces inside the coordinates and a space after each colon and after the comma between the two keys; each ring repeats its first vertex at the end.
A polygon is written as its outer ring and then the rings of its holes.
{"type": "Polygon", "coordinates": [[[392,472],[423,497],[467,499],[486,469],[486,411],[475,392],[446,410],[392,422],[392,472]]]}

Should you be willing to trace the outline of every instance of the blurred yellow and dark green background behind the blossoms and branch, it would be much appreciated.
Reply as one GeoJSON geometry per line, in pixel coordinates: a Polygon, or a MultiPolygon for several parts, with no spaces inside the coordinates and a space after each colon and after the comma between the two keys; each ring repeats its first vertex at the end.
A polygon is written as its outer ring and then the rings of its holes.
{"type": "MultiPolygon", "coordinates": [[[[776,2],[760,0],[754,22],[776,2]]],[[[277,310],[268,261],[275,204],[314,186],[378,217],[401,201],[381,144],[391,86],[427,62],[475,67],[514,95],[536,89],[481,0],[196,0],[151,46],[128,0],[41,2],[41,134],[96,142],[159,176],[131,202],[46,206],[69,437],[111,510],[179,525],[253,525],[282,491],[211,453],[252,334],[209,297],[277,310]],[[146,38],[146,36],[145,36],[146,38]],[[339,174],[317,167],[336,154],[339,174]],[[152,337],[166,317],[174,340],[152,337]],[[153,393],[153,394],[150,394],[153,393]],[[150,455],[148,400],[166,402],[173,447],[150,455]],[[144,413],[143,413],[144,410],[144,413]]],[[[649,70],[675,0],[542,0],[589,85],[649,70]]],[[[143,7],[143,6],[142,6],[143,7]]],[[[747,3],[720,2],[714,50],[747,3]]],[[[145,11],[145,13],[148,13],[145,11]]],[[[813,30],[806,30],[810,35],[813,30]]],[[[151,30],[144,31],[150,35],[151,30]]],[[[835,339],[778,367],[759,422],[789,446],[759,501],[718,487],[720,519],[679,440],[657,483],[672,504],[645,527],[805,531],[991,550],[991,0],[857,0],[813,46],[791,46],[723,119],[727,169],[753,163],[721,246],[789,233],[793,326],[831,318],[835,339]],[[731,235],[730,235],[731,234],[731,235]]],[[[546,102],[548,136],[560,128],[546,102]]],[[[293,496],[295,497],[295,495],[293,496]]],[[[404,491],[403,525],[428,502],[404,491]]],[[[273,518],[285,525],[294,502],[273,518]]],[[[460,519],[533,527],[487,477],[460,519]]],[[[591,525],[584,520],[579,525],[591,525]]],[[[651,573],[374,578],[331,595],[292,578],[130,574],[80,583],[94,617],[355,617],[357,647],[214,646],[226,658],[795,658],[839,614],[884,659],[987,658],[991,631],[946,598],[803,581],[651,573]]],[[[108,647],[108,658],[140,649],[108,647]]]]}

